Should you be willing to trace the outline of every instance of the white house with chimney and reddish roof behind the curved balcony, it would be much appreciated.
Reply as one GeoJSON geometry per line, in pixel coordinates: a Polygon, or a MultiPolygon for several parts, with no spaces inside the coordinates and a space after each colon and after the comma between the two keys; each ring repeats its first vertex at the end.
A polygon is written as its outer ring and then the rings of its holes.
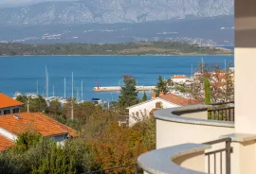
{"type": "Polygon", "coordinates": [[[155,110],[197,103],[198,102],[195,100],[176,96],[172,93],[166,95],[160,93],[160,96],[158,97],[155,97],[155,93],[153,93],[152,99],[127,108],[129,110],[129,127],[133,126],[137,121],[143,119],[145,116],[149,116],[154,113],[155,110]]]}

